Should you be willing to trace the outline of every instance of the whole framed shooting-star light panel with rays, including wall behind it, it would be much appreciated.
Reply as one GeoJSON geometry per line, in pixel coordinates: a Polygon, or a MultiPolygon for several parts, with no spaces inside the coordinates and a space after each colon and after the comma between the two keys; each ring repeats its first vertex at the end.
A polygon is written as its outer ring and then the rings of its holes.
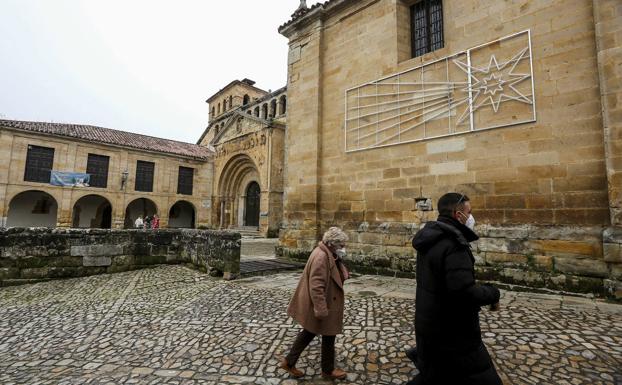
{"type": "Polygon", "coordinates": [[[531,52],[525,30],[347,89],[346,151],[535,122],[531,52]]]}

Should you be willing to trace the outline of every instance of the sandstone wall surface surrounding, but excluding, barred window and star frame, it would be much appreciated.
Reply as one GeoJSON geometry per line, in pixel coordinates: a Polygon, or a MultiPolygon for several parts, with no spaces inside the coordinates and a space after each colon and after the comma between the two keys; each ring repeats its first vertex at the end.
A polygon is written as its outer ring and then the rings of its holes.
{"type": "MultiPolygon", "coordinates": [[[[483,235],[481,277],[614,294],[620,257],[610,251],[619,244],[607,234],[620,228],[619,1],[444,1],[444,47],[419,57],[410,53],[412,3],[336,0],[280,29],[291,106],[283,253],[306,257],[323,231],[341,226],[358,268],[412,274],[410,239],[438,214],[417,211],[414,198],[436,204],[458,191],[483,235]],[[526,30],[535,121],[344,151],[348,89],[526,30]]],[[[426,79],[445,71],[426,68],[426,79]]]]}

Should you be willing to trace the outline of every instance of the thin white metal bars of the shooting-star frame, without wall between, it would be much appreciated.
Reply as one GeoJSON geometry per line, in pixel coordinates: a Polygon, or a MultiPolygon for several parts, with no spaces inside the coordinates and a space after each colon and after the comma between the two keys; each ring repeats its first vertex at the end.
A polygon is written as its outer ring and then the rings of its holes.
{"type": "MultiPolygon", "coordinates": [[[[493,96],[494,96],[494,92],[493,92],[493,96]]],[[[413,143],[413,142],[419,142],[419,141],[423,141],[423,140],[429,140],[429,139],[434,139],[434,138],[443,138],[443,137],[447,137],[447,136],[455,136],[455,135],[461,135],[461,134],[465,134],[468,132],[474,132],[474,131],[485,131],[485,130],[491,130],[491,129],[495,129],[495,128],[501,128],[501,127],[509,127],[509,126],[514,126],[514,125],[519,125],[519,124],[525,124],[525,123],[533,123],[536,121],[536,96],[535,96],[535,84],[534,84],[534,76],[533,76],[533,57],[532,57],[532,46],[531,46],[531,31],[529,29],[524,30],[524,31],[520,31],[520,32],[516,32],[514,34],[508,35],[508,36],[504,36],[500,39],[497,40],[493,40],[484,44],[480,44],[478,46],[469,48],[467,50],[464,51],[460,51],[458,53],[455,53],[453,55],[449,55],[440,59],[436,59],[434,61],[425,63],[425,64],[421,64],[419,66],[410,68],[408,70],[396,73],[396,74],[392,74],[389,76],[385,76],[381,79],[377,79],[371,82],[367,82],[364,84],[360,84],[358,86],[355,87],[351,87],[345,90],[344,92],[344,109],[345,109],[345,114],[344,114],[344,150],[345,152],[358,152],[358,151],[364,151],[364,150],[369,150],[369,149],[373,149],[373,148],[382,148],[382,147],[388,147],[388,146],[395,146],[395,145],[399,145],[399,144],[405,144],[405,143],[413,143]],[[486,46],[489,46],[491,44],[497,43],[497,42],[501,42],[501,41],[505,41],[505,40],[509,40],[512,38],[516,38],[519,37],[521,35],[526,35],[527,40],[528,40],[528,47],[525,48],[524,50],[522,50],[521,52],[519,52],[519,54],[514,55],[514,57],[507,61],[507,62],[502,62],[502,63],[498,63],[496,60],[495,55],[491,55],[490,61],[489,61],[489,66],[487,70],[482,70],[479,68],[475,68],[471,66],[471,52],[484,48],[486,46]],[[528,55],[526,56],[525,53],[528,53],[528,55]],[[466,55],[466,59],[467,59],[467,63],[462,63],[456,60],[456,58],[458,58],[459,56],[462,55],[466,55]],[[514,67],[516,67],[516,65],[518,64],[519,61],[525,59],[525,58],[529,58],[529,73],[525,73],[525,74],[511,74],[511,72],[514,70],[514,67]],[[467,76],[467,81],[466,82],[449,82],[449,61],[452,60],[454,62],[454,64],[456,64],[461,70],[465,71],[466,76],[467,76]],[[525,120],[521,120],[518,122],[509,122],[507,124],[499,124],[499,125],[495,125],[495,126],[488,126],[488,127],[481,127],[481,128],[476,128],[475,124],[474,124],[474,114],[477,111],[478,108],[480,107],[485,107],[488,105],[492,104],[493,110],[496,113],[498,108],[499,108],[499,104],[502,103],[503,100],[503,94],[500,95],[497,104],[495,106],[495,101],[492,99],[492,97],[484,97],[484,101],[482,101],[479,104],[475,104],[477,97],[480,94],[480,90],[475,91],[475,96],[474,96],[474,90],[472,88],[473,86],[473,82],[472,79],[477,79],[475,78],[475,76],[473,75],[474,70],[478,71],[478,72],[482,72],[482,73],[486,73],[487,71],[490,70],[493,62],[495,64],[495,66],[497,67],[497,69],[499,68],[504,68],[505,66],[509,65],[512,63],[512,60],[515,60],[515,63],[512,67],[512,69],[510,70],[510,74],[513,76],[517,76],[517,78],[515,80],[516,83],[522,82],[524,80],[527,80],[527,78],[531,79],[531,95],[523,95],[520,92],[518,92],[514,87],[512,87],[513,84],[515,83],[509,83],[509,87],[511,89],[513,89],[513,91],[517,94],[519,94],[522,97],[509,97],[506,96],[507,100],[515,100],[515,101],[519,101],[519,102],[523,102],[526,104],[530,104],[531,108],[532,108],[532,117],[530,119],[525,119],[525,120]],[[447,68],[447,82],[423,82],[423,70],[424,67],[433,65],[435,63],[441,62],[441,61],[445,61],[446,63],[446,68],[447,68]],[[466,66],[466,68],[464,67],[466,66]],[[422,73],[421,73],[421,77],[422,77],[422,81],[421,83],[418,82],[406,82],[406,83],[402,83],[400,81],[400,77],[406,73],[410,73],[412,71],[416,71],[421,69],[422,73]],[[522,78],[520,78],[522,76],[522,78]],[[397,78],[397,83],[392,82],[392,83],[381,83],[384,80],[387,79],[391,79],[391,78],[397,78]],[[418,85],[421,84],[423,85],[432,85],[435,86],[436,88],[433,89],[429,89],[428,91],[431,93],[426,94],[426,90],[424,89],[424,87],[422,87],[422,95],[421,96],[417,96],[415,97],[405,97],[405,98],[401,98],[401,96],[404,95],[409,95],[409,94],[414,94],[417,95],[418,93],[420,93],[421,91],[404,91],[400,89],[400,86],[404,86],[404,85],[418,85]],[[468,96],[462,100],[454,100],[452,98],[452,91],[456,89],[457,86],[466,86],[467,88],[462,88],[463,91],[468,92],[468,96]],[[374,95],[361,95],[360,94],[360,90],[363,87],[366,86],[375,86],[376,88],[376,93],[374,95]],[[379,94],[378,93],[378,87],[380,86],[397,86],[397,93],[390,93],[390,94],[379,94]],[[440,86],[440,87],[439,87],[440,86]],[[442,87],[445,86],[445,87],[442,87]],[[348,94],[352,91],[356,91],[356,106],[348,106],[348,94]],[[378,97],[379,96],[396,96],[397,100],[395,101],[389,101],[389,102],[383,102],[383,103],[378,103],[378,97]],[[372,98],[375,97],[376,98],[376,103],[374,105],[371,106],[360,106],[360,101],[361,98],[372,98]],[[432,97],[432,99],[426,99],[426,97],[432,97]],[[411,102],[415,99],[421,99],[420,102],[416,102],[413,104],[409,104],[409,105],[402,105],[402,103],[406,102],[411,102]],[[490,102],[486,102],[487,99],[490,99],[490,102]],[[530,98],[530,99],[529,99],[530,98]],[[445,100],[446,104],[443,104],[441,102],[443,102],[443,100],[445,100]],[[432,110],[425,110],[426,109],[426,102],[427,104],[427,108],[433,107],[432,110]],[[432,102],[432,103],[430,103],[432,102]],[[456,108],[458,105],[460,104],[464,104],[464,103],[468,103],[466,110],[465,110],[465,114],[466,111],[468,111],[468,115],[469,115],[469,125],[470,125],[470,129],[469,131],[464,131],[464,132],[450,132],[452,127],[451,127],[451,111],[456,108]],[[389,104],[394,104],[396,105],[396,107],[394,108],[390,108],[388,110],[383,110],[380,111],[380,106],[381,105],[389,105],[389,104]],[[411,129],[415,129],[416,127],[418,127],[419,125],[423,125],[424,126],[424,137],[423,138],[419,138],[419,139],[412,139],[412,140],[405,140],[402,141],[402,133],[404,132],[402,130],[402,124],[404,123],[404,121],[401,120],[401,110],[404,107],[411,107],[413,105],[417,105],[417,104],[423,104],[424,108],[421,109],[422,113],[419,116],[415,116],[415,118],[417,117],[422,117],[425,115],[429,115],[430,113],[432,113],[432,117],[431,118],[436,118],[444,113],[449,112],[449,123],[448,123],[448,134],[443,134],[443,135],[435,135],[435,136],[427,136],[426,132],[425,132],[425,123],[428,119],[422,119],[421,122],[417,123],[415,126],[409,127],[404,131],[408,131],[411,129]],[[376,112],[372,112],[372,113],[368,113],[366,115],[361,115],[361,109],[365,109],[365,108],[369,108],[369,107],[376,107],[376,112]],[[442,108],[442,107],[448,107],[447,108],[442,108]],[[398,115],[396,116],[392,116],[390,118],[385,118],[385,119],[380,119],[380,114],[384,113],[384,112],[388,112],[388,111],[398,111],[398,115]],[[438,112],[440,110],[440,113],[438,112]],[[356,115],[354,114],[350,114],[350,111],[356,111],[356,115]],[[364,117],[371,117],[376,115],[377,118],[375,121],[371,121],[369,123],[366,123],[364,125],[360,124],[360,119],[364,118],[364,117]],[[389,127],[384,127],[382,129],[379,128],[379,124],[383,121],[388,121],[388,120],[393,120],[393,119],[397,119],[398,122],[389,126],[389,127]],[[348,128],[348,122],[350,121],[357,121],[357,126],[353,127],[353,128],[348,128]],[[369,127],[369,126],[373,126],[376,125],[376,129],[371,132],[371,133],[367,133],[363,136],[361,136],[361,128],[363,127],[369,127]],[[396,135],[393,135],[392,137],[389,137],[389,140],[394,139],[395,137],[398,138],[398,141],[395,143],[389,143],[389,144],[382,144],[382,141],[379,142],[378,141],[378,134],[381,132],[384,132],[386,130],[389,129],[393,129],[395,127],[398,127],[398,131],[396,135]],[[356,136],[356,141],[357,141],[357,148],[354,149],[350,149],[348,150],[348,133],[351,132],[357,132],[357,136],[356,136]],[[361,147],[359,148],[359,143],[361,139],[365,139],[367,137],[373,136],[375,134],[376,136],[376,140],[375,140],[375,144],[371,145],[371,146],[367,146],[367,147],[361,147]]],[[[417,111],[417,110],[415,110],[417,111]]],[[[412,111],[408,112],[408,113],[412,113],[412,111]]],[[[464,114],[462,114],[464,115],[464,114]]],[[[410,118],[409,120],[414,120],[415,118],[410,118]]],[[[455,124],[456,126],[462,124],[460,122],[461,118],[459,117],[455,124]]],[[[383,141],[386,141],[387,139],[383,139],[383,141]]]]}

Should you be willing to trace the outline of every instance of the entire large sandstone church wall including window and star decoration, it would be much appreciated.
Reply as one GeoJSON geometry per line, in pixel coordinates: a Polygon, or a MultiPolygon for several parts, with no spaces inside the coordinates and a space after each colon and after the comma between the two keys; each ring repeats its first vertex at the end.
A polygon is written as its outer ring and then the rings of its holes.
{"type": "Polygon", "coordinates": [[[360,270],[412,274],[457,191],[481,277],[622,293],[619,1],[304,3],[279,28],[283,255],[337,225],[360,270]]]}

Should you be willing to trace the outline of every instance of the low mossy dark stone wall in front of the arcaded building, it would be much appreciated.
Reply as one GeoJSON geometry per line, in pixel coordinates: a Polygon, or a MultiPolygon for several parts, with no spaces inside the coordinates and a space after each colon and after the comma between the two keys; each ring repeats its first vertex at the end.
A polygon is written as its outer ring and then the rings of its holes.
{"type": "Polygon", "coordinates": [[[232,279],[240,234],[210,230],[0,229],[0,285],[189,263],[232,279]]]}

